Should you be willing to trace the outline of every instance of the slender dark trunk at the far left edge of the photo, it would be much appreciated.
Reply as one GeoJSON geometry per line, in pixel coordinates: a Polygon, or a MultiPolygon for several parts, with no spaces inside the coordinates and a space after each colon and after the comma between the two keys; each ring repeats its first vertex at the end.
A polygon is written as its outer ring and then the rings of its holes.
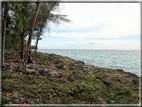
{"type": "Polygon", "coordinates": [[[7,15],[8,15],[8,3],[5,3],[5,10],[4,10],[4,26],[3,26],[3,35],[2,35],[2,49],[3,49],[3,54],[2,54],[2,64],[4,65],[4,51],[5,51],[5,35],[6,35],[6,20],[7,20],[7,15]]]}

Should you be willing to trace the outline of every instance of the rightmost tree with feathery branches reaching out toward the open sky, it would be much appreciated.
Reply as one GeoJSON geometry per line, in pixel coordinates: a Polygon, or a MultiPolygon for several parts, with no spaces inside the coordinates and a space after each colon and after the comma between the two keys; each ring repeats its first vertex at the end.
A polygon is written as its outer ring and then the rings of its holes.
{"type": "MultiPolygon", "coordinates": [[[[40,6],[40,10],[38,12],[37,20],[35,23],[35,32],[36,33],[36,49],[35,49],[35,54],[37,53],[37,46],[38,46],[38,41],[41,40],[40,36],[42,35],[43,29],[46,27],[47,28],[47,23],[53,22],[57,25],[59,25],[62,22],[71,22],[69,19],[66,19],[66,15],[60,15],[60,14],[53,14],[51,11],[55,11],[58,9],[59,3],[42,3],[40,6]]],[[[50,28],[48,27],[50,30],[50,28]]]]}

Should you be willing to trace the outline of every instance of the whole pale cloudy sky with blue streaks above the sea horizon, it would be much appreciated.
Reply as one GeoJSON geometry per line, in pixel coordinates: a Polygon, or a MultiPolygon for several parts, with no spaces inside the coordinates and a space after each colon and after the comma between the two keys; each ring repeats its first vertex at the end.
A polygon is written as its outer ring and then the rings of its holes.
{"type": "Polygon", "coordinates": [[[72,22],[50,23],[38,49],[140,50],[139,3],[60,3],[60,8],[72,22]]]}

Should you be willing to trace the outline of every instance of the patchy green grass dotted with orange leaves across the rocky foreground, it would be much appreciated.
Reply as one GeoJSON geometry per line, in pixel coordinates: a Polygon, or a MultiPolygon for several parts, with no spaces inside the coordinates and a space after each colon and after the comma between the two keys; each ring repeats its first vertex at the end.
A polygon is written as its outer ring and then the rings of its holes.
{"type": "MultiPolygon", "coordinates": [[[[37,55],[33,56],[33,58],[37,58],[37,55]]],[[[63,58],[60,57],[59,59],[62,60],[63,58]]],[[[64,58],[63,60],[69,61],[72,64],[75,62],[69,58],[64,58]]],[[[125,84],[127,78],[121,78],[121,76],[118,75],[119,73],[105,73],[102,69],[94,69],[94,72],[90,74],[93,69],[89,69],[88,72],[84,73],[85,75],[82,78],[79,77],[78,79],[75,79],[75,81],[69,82],[67,76],[73,75],[72,73],[77,72],[78,70],[58,69],[57,71],[62,72],[65,75],[65,78],[41,76],[39,79],[33,80],[31,79],[32,77],[26,74],[14,76],[13,74],[4,73],[2,75],[4,83],[2,84],[3,93],[14,93],[13,90],[15,87],[18,87],[17,90],[19,94],[25,96],[27,99],[34,99],[38,104],[73,104],[73,101],[76,101],[77,104],[101,104],[102,101],[99,99],[100,96],[102,99],[107,99],[109,104],[138,103],[139,85],[131,85],[130,83],[125,84]],[[122,82],[114,81],[113,79],[116,77],[122,82]],[[105,85],[100,78],[110,80],[113,85],[105,85]],[[53,79],[53,81],[51,79],[53,79]],[[83,85],[84,87],[82,89],[77,89],[76,87],[80,87],[80,85],[83,85]],[[47,88],[45,88],[45,86],[47,86],[47,88]],[[46,95],[48,92],[55,92],[53,87],[61,90],[60,92],[58,91],[61,95],[60,100],[57,100],[57,96],[48,97],[46,95]],[[69,93],[69,90],[72,90],[73,93],[69,93]]],[[[17,103],[15,100],[8,100],[6,98],[3,98],[2,102],[4,104],[9,102],[14,104],[17,103]]]]}

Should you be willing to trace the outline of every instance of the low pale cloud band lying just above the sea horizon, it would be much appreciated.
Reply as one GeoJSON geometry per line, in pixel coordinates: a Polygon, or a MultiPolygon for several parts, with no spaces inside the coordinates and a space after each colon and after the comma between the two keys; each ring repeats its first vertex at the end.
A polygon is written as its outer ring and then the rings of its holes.
{"type": "Polygon", "coordinates": [[[66,46],[67,49],[76,49],[82,48],[82,46],[87,45],[87,49],[119,49],[119,50],[139,50],[140,49],[140,41],[139,40],[84,40],[84,41],[61,41],[56,43],[49,43],[52,46],[52,49],[57,48],[64,48],[66,46]]]}

